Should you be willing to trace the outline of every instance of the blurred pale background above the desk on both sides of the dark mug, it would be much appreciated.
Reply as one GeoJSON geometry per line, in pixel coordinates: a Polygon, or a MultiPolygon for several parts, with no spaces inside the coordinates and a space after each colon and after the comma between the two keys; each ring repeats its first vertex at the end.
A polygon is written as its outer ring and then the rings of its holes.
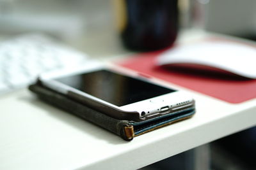
{"type": "MultiPolygon", "coordinates": [[[[0,0],[0,33],[45,32],[90,55],[117,55],[124,51],[115,4],[116,0],[0,0]]],[[[179,0],[180,30],[255,39],[255,9],[253,0],[179,0]]]]}

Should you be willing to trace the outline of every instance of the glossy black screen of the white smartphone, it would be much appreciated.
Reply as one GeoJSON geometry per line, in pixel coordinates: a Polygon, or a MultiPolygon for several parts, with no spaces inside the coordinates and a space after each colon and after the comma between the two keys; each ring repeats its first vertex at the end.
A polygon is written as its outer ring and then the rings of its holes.
{"type": "Polygon", "coordinates": [[[175,92],[173,89],[105,69],[55,80],[116,106],[124,106],[175,92]]]}

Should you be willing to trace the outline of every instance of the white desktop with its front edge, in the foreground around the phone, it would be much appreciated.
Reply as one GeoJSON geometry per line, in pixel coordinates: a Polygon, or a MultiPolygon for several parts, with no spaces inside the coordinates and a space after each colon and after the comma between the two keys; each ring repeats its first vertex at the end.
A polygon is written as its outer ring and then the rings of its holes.
{"type": "Polygon", "coordinates": [[[193,118],[130,142],[26,89],[1,96],[0,169],[138,169],[256,125],[256,99],[229,104],[183,90],[196,100],[193,118]]]}

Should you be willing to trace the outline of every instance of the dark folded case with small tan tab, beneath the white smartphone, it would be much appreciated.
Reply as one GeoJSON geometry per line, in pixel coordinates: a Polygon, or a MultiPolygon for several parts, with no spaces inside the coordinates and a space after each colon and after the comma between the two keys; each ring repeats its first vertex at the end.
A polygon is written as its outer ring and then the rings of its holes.
{"type": "Polygon", "coordinates": [[[78,117],[81,117],[93,124],[99,125],[108,131],[115,133],[126,141],[131,141],[134,137],[144,134],[145,132],[154,131],[159,127],[190,118],[195,113],[195,107],[186,110],[176,111],[171,115],[161,115],[150,120],[134,122],[129,120],[118,120],[109,117],[104,113],[85,106],[74,99],[70,99],[63,94],[43,87],[40,81],[29,86],[29,90],[34,92],[43,101],[52,104],[62,110],[68,111],[78,117]]]}

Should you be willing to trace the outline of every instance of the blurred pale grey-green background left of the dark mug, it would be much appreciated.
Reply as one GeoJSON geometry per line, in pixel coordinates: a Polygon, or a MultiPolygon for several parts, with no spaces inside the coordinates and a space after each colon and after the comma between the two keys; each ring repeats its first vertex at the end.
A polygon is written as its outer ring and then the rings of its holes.
{"type": "Polygon", "coordinates": [[[0,0],[0,33],[6,36],[44,32],[90,55],[108,55],[119,49],[114,27],[111,1],[0,0]],[[108,45],[116,48],[109,52],[108,45]]]}

